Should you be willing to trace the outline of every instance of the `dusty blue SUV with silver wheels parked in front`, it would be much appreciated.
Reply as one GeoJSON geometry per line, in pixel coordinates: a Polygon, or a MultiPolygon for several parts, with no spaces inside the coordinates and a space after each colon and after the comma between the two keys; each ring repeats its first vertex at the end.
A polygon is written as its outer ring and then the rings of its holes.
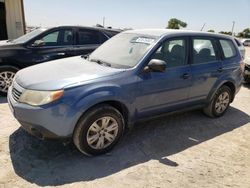
{"type": "Polygon", "coordinates": [[[72,138],[82,153],[98,155],[139,120],[189,108],[222,116],[242,85],[243,69],[229,36],[133,30],[111,38],[86,59],[19,71],[8,101],[30,134],[72,138]]]}

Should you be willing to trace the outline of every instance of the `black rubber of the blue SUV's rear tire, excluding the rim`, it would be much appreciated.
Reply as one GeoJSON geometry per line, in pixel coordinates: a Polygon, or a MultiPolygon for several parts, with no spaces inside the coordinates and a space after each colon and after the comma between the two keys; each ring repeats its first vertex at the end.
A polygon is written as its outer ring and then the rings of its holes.
{"type": "Polygon", "coordinates": [[[225,114],[225,112],[227,111],[227,109],[228,109],[228,107],[229,107],[229,105],[230,105],[230,103],[231,103],[231,101],[232,101],[232,97],[233,97],[232,90],[231,90],[228,86],[222,86],[222,87],[220,87],[220,88],[216,91],[216,93],[215,93],[213,99],[210,101],[209,105],[208,105],[206,108],[203,109],[203,112],[204,112],[207,116],[213,117],[213,118],[214,118],[214,117],[221,117],[221,116],[223,116],[223,115],[225,114]],[[218,97],[219,97],[222,93],[224,93],[224,92],[228,93],[228,95],[229,95],[229,103],[228,103],[226,109],[225,109],[223,112],[218,113],[218,112],[216,111],[215,104],[216,104],[216,101],[218,100],[218,97]]]}

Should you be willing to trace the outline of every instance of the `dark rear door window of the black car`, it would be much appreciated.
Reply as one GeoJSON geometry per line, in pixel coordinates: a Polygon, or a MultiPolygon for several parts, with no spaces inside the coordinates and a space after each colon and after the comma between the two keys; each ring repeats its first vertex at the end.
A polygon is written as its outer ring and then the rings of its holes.
{"type": "Polygon", "coordinates": [[[100,35],[98,31],[80,29],[78,36],[79,45],[100,44],[100,35]]]}

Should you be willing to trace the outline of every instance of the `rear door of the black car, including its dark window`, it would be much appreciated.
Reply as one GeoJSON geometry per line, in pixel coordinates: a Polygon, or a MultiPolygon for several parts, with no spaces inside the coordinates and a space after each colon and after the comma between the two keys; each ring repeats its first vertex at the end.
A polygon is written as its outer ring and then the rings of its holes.
{"type": "Polygon", "coordinates": [[[93,52],[101,43],[105,36],[98,30],[79,28],[77,32],[77,45],[74,46],[76,55],[86,55],[93,52]]]}

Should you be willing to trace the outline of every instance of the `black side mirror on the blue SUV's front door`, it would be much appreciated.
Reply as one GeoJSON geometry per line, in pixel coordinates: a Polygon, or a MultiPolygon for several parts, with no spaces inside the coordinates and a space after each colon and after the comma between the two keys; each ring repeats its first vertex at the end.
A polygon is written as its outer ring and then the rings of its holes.
{"type": "Polygon", "coordinates": [[[167,63],[159,59],[151,59],[144,68],[144,72],[165,72],[167,63]]]}

